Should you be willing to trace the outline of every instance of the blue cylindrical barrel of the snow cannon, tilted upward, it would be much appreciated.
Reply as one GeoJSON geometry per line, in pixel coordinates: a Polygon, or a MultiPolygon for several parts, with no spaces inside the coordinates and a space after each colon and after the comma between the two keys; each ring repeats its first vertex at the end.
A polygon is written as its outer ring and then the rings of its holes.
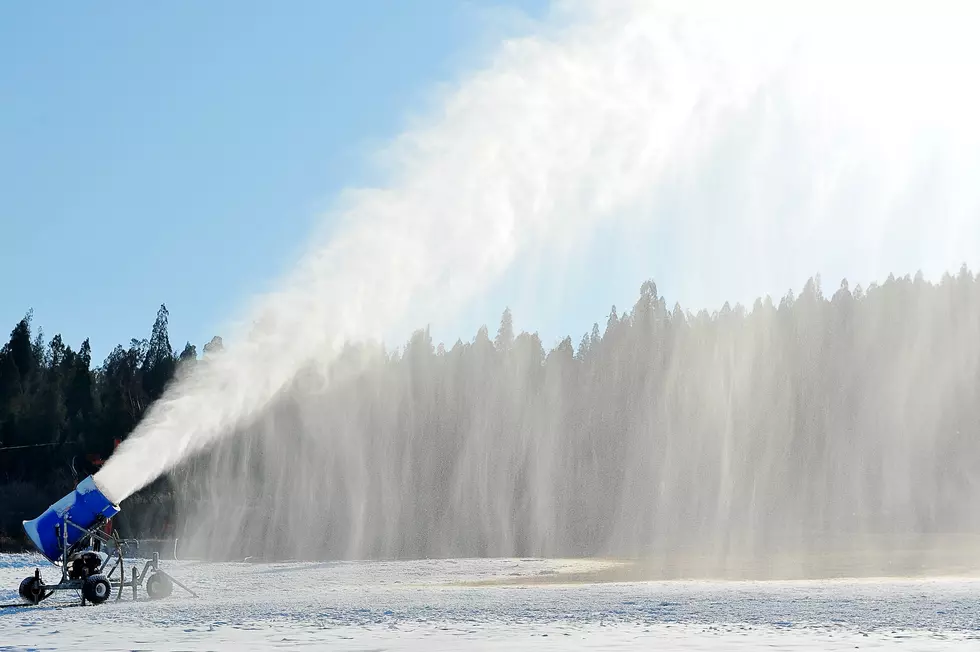
{"type": "Polygon", "coordinates": [[[41,554],[57,565],[61,560],[63,544],[67,543],[69,547],[74,545],[85,536],[85,530],[96,524],[99,517],[108,520],[118,513],[119,506],[113,505],[95,484],[95,479],[88,476],[78,483],[74,491],[48,507],[36,519],[24,521],[24,531],[41,554]]]}

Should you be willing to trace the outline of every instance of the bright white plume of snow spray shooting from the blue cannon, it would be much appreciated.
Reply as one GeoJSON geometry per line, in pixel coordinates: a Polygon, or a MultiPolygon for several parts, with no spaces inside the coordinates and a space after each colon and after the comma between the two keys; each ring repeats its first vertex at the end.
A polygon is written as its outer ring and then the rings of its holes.
{"type": "Polygon", "coordinates": [[[339,226],[227,351],[154,404],[99,485],[118,503],[246,429],[301,370],[329,382],[345,342],[453,317],[515,261],[560,259],[598,226],[659,224],[692,296],[974,262],[968,21],[723,7],[560,2],[500,44],[392,144],[384,187],[346,193],[326,220],[339,226]]]}

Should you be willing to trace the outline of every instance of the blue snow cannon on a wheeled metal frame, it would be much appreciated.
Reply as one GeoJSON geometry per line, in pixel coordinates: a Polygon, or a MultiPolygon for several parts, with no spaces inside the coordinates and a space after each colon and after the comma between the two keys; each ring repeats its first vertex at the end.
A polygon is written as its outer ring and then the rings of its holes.
{"type": "MultiPolygon", "coordinates": [[[[48,584],[41,579],[41,570],[20,583],[20,597],[26,605],[36,605],[55,591],[80,591],[82,604],[101,604],[118,589],[116,600],[122,599],[124,588],[133,590],[144,585],[151,600],[168,597],[174,585],[192,596],[197,594],[160,569],[160,555],[153,553],[143,572],[136,566],[127,577],[124,566],[123,540],[119,533],[106,527],[119,513],[119,506],[103,493],[93,476],[78,483],[75,489],[54,503],[36,519],[24,521],[24,532],[44,557],[61,568],[61,580],[48,584]],[[111,566],[110,566],[111,564],[111,566]]],[[[12,606],[12,605],[6,605],[12,606]]]]}

